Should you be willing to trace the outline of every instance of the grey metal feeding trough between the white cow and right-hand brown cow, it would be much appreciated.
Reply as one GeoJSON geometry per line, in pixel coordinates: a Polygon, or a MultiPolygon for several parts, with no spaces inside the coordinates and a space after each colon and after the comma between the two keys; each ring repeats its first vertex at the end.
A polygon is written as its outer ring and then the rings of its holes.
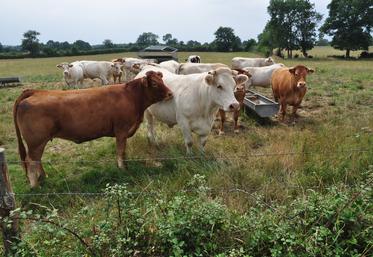
{"type": "Polygon", "coordinates": [[[255,112],[261,118],[272,117],[279,109],[278,103],[251,90],[247,91],[243,103],[246,110],[255,112]]]}

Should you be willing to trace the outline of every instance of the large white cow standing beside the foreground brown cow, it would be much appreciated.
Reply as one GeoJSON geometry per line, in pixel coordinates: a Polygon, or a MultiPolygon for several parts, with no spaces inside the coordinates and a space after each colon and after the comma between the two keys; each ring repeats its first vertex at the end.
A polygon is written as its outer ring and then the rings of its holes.
{"type": "Polygon", "coordinates": [[[204,150],[219,108],[224,111],[239,109],[233,90],[236,83],[247,80],[247,76],[236,75],[236,72],[227,68],[200,74],[176,75],[159,67],[146,66],[137,76],[143,76],[148,70],[162,71],[163,79],[174,95],[171,101],[154,104],[146,110],[149,141],[155,143],[154,118],[169,127],[178,124],[188,154],[192,150],[192,132],[198,135],[200,148],[204,150]]]}

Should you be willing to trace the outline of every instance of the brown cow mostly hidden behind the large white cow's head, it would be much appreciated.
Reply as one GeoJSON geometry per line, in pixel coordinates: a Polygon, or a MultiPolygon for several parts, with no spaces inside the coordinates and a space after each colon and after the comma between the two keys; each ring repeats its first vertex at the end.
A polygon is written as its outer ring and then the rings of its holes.
{"type": "MultiPolygon", "coordinates": [[[[248,71],[245,71],[242,69],[234,69],[234,70],[237,71],[237,74],[244,74],[249,79],[251,78],[251,74],[248,71]]],[[[243,108],[243,100],[245,98],[245,95],[246,95],[245,83],[236,85],[234,96],[236,97],[238,103],[240,104],[240,109],[243,108]]],[[[240,116],[240,109],[233,111],[234,133],[239,132],[238,116],[240,116]]],[[[219,115],[220,115],[219,135],[223,135],[224,134],[224,122],[225,122],[225,111],[222,109],[219,109],[219,115]]]]}

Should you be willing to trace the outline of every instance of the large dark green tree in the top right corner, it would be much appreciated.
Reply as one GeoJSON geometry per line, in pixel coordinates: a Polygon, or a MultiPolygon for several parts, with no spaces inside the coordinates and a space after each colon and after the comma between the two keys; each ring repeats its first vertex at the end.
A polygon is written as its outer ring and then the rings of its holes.
{"type": "Polygon", "coordinates": [[[333,36],[331,45],[346,50],[368,49],[373,26],[373,0],[332,0],[328,5],[329,17],[321,27],[323,33],[333,36]]]}

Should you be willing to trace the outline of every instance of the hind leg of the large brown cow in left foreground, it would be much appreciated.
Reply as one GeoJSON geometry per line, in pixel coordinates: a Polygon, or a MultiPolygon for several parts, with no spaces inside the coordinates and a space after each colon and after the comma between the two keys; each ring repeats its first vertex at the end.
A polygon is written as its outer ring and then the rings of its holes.
{"type": "Polygon", "coordinates": [[[29,151],[26,156],[26,165],[27,178],[31,187],[38,186],[39,182],[47,176],[43,169],[43,165],[41,164],[41,157],[47,142],[48,141],[29,147],[29,151]]]}

